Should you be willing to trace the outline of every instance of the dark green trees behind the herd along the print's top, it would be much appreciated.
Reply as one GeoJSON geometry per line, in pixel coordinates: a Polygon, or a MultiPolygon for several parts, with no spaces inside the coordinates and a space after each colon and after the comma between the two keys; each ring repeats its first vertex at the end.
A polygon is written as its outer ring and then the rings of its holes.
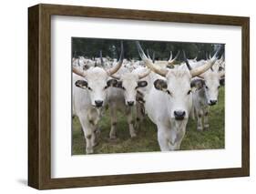
{"type": "MultiPolygon", "coordinates": [[[[172,51],[173,55],[179,50],[185,50],[188,58],[198,56],[198,59],[205,59],[206,55],[214,54],[215,48],[219,44],[210,43],[185,43],[185,42],[160,42],[160,41],[139,41],[143,49],[148,49],[149,54],[152,56],[155,52],[156,59],[167,60],[169,59],[169,52],[172,51]]],[[[125,58],[137,58],[138,50],[134,40],[123,40],[125,58]]],[[[117,58],[120,49],[120,40],[118,39],[100,39],[100,38],[72,38],[72,56],[87,56],[89,58],[98,57],[99,51],[102,50],[103,56],[110,56],[117,58]]],[[[224,46],[220,54],[224,53],[224,46]]],[[[183,60],[180,55],[178,60],[183,60]]]]}

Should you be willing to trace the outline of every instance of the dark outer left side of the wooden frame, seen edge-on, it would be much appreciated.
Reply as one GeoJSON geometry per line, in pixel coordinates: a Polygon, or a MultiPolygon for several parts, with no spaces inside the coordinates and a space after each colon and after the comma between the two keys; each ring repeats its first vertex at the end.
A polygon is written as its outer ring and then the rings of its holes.
{"type": "Polygon", "coordinates": [[[39,189],[39,5],[28,8],[28,186],[39,189]]]}

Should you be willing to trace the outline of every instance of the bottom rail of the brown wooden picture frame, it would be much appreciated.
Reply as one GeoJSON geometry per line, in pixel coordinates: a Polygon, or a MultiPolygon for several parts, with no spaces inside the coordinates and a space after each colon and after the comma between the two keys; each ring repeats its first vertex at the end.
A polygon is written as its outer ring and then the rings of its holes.
{"type": "Polygon", "coordinates": [[[112,185],[146,184],[169,181],[199,179],[226,179],[247,177],[243,168],[201,169],[177,172],[157,172],[146,174],[124,174],[98,177],[49,179],[41,189],[70,189],[112,185]],[[221,172],[220,172],[221,170],[221,172]]]}

